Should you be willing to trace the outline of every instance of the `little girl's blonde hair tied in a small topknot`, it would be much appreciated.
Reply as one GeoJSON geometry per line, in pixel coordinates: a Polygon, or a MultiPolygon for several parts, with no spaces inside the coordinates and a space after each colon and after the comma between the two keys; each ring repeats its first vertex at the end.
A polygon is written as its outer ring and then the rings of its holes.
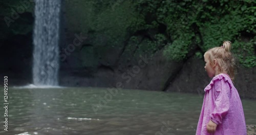
{"type": "Polygon", "coordinates": [[[234,72],[236,66],[236,60],[234,59],[231,50],[231,42],[224,41],[223,46],[211,48],[205,52],[205,56],[209,59],[210,65],[214,65],[214,59],[219,66],[217,66],[217,72],[226,73],[231,80],[234,80],[234,72]]]}

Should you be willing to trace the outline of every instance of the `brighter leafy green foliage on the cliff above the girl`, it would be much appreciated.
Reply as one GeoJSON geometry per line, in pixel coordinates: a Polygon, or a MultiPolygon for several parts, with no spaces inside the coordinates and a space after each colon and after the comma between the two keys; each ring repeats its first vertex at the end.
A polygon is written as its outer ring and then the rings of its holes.
{"type": "MultiPolygon", "coordinates": [[[[180,61],[196,43],[201,52],[233,42],[233,52],[246,67],[256,66],[255,1],[154,1],[137,2],[140,17],[138,28],[149,30],[160,24],[166,37],[164,56],[180,61]],[[157,22],[157,24],[155,24],[157,22]],[[147,27],[144,27],[147,26],[147,27]]],[[[200,56],[195,52],[197,56],[200,56]]]]}

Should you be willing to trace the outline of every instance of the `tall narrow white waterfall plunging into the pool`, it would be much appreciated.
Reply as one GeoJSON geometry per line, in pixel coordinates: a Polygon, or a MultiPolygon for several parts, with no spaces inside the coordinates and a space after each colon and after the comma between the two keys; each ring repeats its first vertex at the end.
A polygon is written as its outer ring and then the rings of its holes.
{"type": "Polygon", "coordinates": [[[61,0],[35,0],[33,83],[58,85],[61,0]]]}

